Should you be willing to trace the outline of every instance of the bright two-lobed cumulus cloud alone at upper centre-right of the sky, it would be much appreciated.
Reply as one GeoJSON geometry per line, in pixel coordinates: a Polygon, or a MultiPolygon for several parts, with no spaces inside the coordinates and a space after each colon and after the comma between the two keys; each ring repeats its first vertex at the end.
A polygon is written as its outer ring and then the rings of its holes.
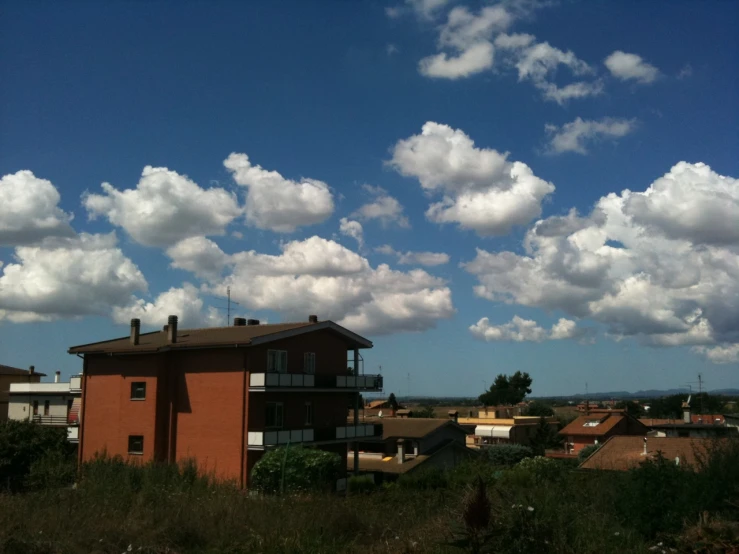
{"type": "Polygon", "coordinates": [[[389,164],[415,177],[429,193],[441,193],[426,217],[457,223],[482,236],[504,235],[541,214],[541,202],[554,185],[536,177],[507,153],[477,148],[460,129],[427,122],[421,134],[397,142],[389,164]]]}

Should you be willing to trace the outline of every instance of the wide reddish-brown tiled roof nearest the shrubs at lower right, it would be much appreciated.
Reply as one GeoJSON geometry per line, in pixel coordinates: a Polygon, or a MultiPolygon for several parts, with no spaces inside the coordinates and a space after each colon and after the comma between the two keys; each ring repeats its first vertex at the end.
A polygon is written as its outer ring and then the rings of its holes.
{"type": "Polygon", "coordinates": [[[614,436],[580,464],[580,469],[627,471],[658,454],[676,465],[695,466],[697,457],[712,443],[710,439],[614,436]]]}

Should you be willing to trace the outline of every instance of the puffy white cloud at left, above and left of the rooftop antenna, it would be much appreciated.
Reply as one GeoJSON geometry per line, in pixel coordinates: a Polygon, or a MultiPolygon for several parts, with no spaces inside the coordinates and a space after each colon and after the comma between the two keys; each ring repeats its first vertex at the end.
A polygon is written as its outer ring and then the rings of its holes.
{"type": "Polygon", "coordinates": [[[107,218],[136,242],[168,246],[198,235],[222,235],[242,213],[233,194],[204,189],[166,167],[146,166],[135,189],[120,191],[103,183],[104,194],[86,193],[91,219],[107,218]]]}

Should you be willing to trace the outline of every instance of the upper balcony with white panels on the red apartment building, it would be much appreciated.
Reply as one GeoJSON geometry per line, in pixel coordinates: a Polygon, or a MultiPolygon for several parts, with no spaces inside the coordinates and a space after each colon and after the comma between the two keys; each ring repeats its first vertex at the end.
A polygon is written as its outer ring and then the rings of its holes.
{"type": "Polygon", "coordinates": [[[309,375],[304,373],[252,373],[249,390],[259,391],[375,391],[382,390],[382,375],[309,375]]]}

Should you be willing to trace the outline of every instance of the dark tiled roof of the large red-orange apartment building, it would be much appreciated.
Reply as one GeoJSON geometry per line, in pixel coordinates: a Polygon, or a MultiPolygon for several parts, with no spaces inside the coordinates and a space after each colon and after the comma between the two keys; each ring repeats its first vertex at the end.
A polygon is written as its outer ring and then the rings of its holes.
{"type": "MultiPolygon", "coordinates": [[[[153,333],[142,333],[139,335],[139,344],[134,346],[131,344],[130,336],[118,339],[95,342],[91,344],[83,344],[73,346],[69,349],[70,354],[83,353],[135,353],[135,352],[156,352],[162,349],[177,348],[203,348],[212,346],[232,346],[251,344],[254,339],[268,337],[277,333],[294,331],[304,327],[315,326],[316,330],[333,329],[343,331],[353,335],[351,331],[343,329],[330,321],[322,321],[318,323],[296,322],[296,323],[265,323],[262,325],[244,325],[233,327],[210,327],[203,329],[177,329],[177,341],[169,343],[167,341],[167,331],[155,331],[153,333]]],[[[358,335],[354,335],[367,343],[367,339],[363,339],[358,335]]],[[[369,343],[371,345],[371,343],[369,343]]]]}

